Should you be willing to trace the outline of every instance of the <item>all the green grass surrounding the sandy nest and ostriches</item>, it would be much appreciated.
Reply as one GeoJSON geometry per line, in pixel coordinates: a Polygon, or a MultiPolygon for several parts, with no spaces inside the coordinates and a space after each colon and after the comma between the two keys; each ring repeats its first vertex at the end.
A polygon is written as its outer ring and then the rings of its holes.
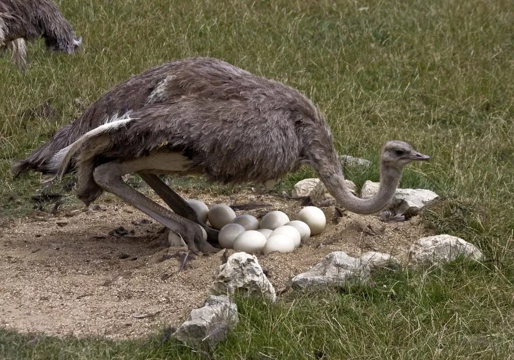
{"type": "MultiPolygon", "coordinates": [[[[29,46],[20,73],[0,59],[0,216],[32,211],[40,177],[10,166],[107,89],[163,62],[216,57],[285,82],[326,114],[341,153],[377,164],[389,139],[430,154],[402,187],[442,202],[439,233],[485,264],[378,276],[376,286],[240,300],[242,321],[209,354],[173,341],[55,339],[0,330],[0,358],[507,358],[514,353],[514,9],[491,0],[91,1],[59,4],[83,51],[29,46]],[[13,200],[17,198],[17,200],[13,200]]],[[[288,188],[309,173],[292,174],[288,188]]],[[[378,180],[375,166],[348,173],[378,180]]],[[[185,185],[187,186],[187,185],[185,185]]],[[[199,186],[193,184],[193,186],[199,186]]],[[[212,190],[210,190],[212,191],[212,190]]],[[[78,206],[69,196],[66,206],[78,206]]]]}

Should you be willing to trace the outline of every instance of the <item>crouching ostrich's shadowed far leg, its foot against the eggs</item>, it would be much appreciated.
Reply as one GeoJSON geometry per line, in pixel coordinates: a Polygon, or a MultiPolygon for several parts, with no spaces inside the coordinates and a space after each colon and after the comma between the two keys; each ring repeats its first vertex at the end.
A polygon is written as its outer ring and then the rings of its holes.
{"type": "Polygon", "coordinates": [[[139,176],[141,176],[143,181],[148,184],[173,211],[203,227],[207,232],[207,238],[209,241],[214,243],[218,242],[219,231],[207,226],[200,219],[198,219],[196,211],[194,211],[194,209],[189,206],[187,201],[182,199],[179,194],[177,194],[175,191],[173,191],[172,188],[166,185],[166,183],[164,183],[159,178],[159,176],[144,172],[139,173],[139,176]]]}

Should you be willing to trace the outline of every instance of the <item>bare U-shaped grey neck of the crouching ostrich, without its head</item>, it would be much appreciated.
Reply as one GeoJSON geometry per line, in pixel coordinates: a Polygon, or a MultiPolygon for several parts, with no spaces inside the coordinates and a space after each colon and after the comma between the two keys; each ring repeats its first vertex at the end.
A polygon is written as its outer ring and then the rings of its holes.
{"type": "Polygon", "coordinates": [[[360,214],[371,214],[387,207],[396,192],[401,170],[380,166],[380,186],[370,199],[360,199],[352,194],[342,173],[320,173],[321,181],[336,201],[344,208],[360,214]]]}

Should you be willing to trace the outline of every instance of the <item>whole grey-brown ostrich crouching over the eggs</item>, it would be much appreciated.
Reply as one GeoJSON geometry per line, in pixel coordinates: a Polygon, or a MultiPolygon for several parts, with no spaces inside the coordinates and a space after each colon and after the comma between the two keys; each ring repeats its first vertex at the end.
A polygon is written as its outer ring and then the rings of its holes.
{"type": "Polygon", "coordinates": [[[102,95],[82,116],[13,167],[58,177],[78,173],[78,197],[89,205],[112,192],[178,233],[192,250],[215,251],[217,231],[158,174],[205,174],[222,183],[268,182],[302,164],[317,170],[337,202],[358,213],[386,207],[402,169],[428,160],[408,143],[382,149],[380,189],[359,199],[345,185],[329,128],[302,94],[280,82],[209,58],[173,61],[132,77],[102,95]],[[123,182],[138,173],[174,211],[123,182]]]}

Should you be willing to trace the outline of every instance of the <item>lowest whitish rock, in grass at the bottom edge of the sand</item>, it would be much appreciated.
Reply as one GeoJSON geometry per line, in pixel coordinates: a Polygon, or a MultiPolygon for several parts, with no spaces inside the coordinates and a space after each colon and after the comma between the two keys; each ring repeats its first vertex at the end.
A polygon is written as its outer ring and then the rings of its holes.
{"type": "Polygon", "coordinates": [[[231,298],[209,295],[203,307],[191,311],[189,319],[173,333],[173,337],[194,348],[211,349],[237,325],[237,305],[231,298]]]}

